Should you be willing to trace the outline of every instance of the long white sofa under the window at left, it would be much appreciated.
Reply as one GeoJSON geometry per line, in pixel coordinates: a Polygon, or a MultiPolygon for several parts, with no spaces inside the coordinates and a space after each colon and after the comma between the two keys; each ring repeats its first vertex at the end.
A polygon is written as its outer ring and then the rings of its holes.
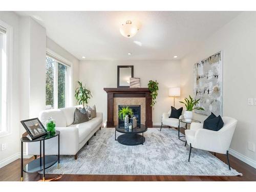
{"type": "MultiPolygon", "coordinates": [[[[60,131],[60,155],[75,155],[88,143],[88,140],[96,135],[96,132],[102,125],[102,113],[97,113],[97,117],[80,124],[73,124],[75,109],[79,106],[71,106],[57,110],[44,110],[40,112],[39,119],[42,124],[52,117],[56,122],[55,129],[60,131]]],[[[39,142],[27,143],[27,155],[39,155],[39,142]]],[[[52,138],[45,141],[45,154],[58,154],[58,138],[52,138]]]]}

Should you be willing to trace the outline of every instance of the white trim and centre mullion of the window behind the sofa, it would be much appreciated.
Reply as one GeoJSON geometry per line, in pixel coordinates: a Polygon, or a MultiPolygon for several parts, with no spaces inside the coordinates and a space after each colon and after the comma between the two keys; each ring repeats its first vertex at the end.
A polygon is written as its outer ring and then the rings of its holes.
{"type": "MultiPolygon", "coordinates": [[[[65,107],[72,106],[73,105],[73,100],[72,100],[72,90],[73,90],[73,63],[66,58],[60,56],[59,54],[55,53],[54,51],[50,49],[46,49],[46,53],[51,57],[58,59],[57,63],[60,62],[62,65],[67,66],[67,71],[66,71],[66,102],[65,102],[65,107]]],[[[55,61],[56,62],[56,61],[55,61]]],[[[58,66],[56,65],[57,63],[54,63],[54,78],[57,77],[57,71],[58,71],[58,66]]],[[[58,84],[58,78],[54,79],[54,87],[56,84],[58,84]]],[[[58,90],[54,89],[54,109],[58,109],[58,90]]]]}

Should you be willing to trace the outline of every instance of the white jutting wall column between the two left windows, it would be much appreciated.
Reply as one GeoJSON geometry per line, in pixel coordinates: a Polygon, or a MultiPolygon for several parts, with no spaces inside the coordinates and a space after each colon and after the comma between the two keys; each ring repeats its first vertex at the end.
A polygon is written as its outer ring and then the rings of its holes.
{"type": "MultiPolygon", "coordinates": [[[[37,117],[45,109],[46,29],[31,17],[20,17],[19,27],[20,119],[29,119],[37,117]]],[[[24,132],[22,127],[20,134],[24,132]]]]}

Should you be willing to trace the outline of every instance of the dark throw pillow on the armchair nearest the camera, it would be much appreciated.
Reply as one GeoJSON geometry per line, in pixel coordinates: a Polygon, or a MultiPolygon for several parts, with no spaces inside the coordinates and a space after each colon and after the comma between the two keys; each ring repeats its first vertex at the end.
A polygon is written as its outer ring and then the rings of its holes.
{"type": "Polygon", "coordinates": [[[224,122],[219,115],[218,117],[211,113],[207,119],[204,120],[203,129],[211,130],[211,131],[219,131],[224,125],[224,122]]]}

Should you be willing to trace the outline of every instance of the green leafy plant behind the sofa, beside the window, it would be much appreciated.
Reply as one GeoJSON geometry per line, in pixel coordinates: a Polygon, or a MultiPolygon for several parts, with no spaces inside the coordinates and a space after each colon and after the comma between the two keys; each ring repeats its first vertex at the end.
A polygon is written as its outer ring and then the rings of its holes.
{"type": "Polygon", "coordinates": [[[84,103],[87,104],[88,100],[92,97],[91,91],[86,89],[85,86],[82,86],[82,82],[77,82],[79,84],[79,87],[75,90],[75,98],[77,100],[76,103],[82,104],[84,106],[84,103]]]}

